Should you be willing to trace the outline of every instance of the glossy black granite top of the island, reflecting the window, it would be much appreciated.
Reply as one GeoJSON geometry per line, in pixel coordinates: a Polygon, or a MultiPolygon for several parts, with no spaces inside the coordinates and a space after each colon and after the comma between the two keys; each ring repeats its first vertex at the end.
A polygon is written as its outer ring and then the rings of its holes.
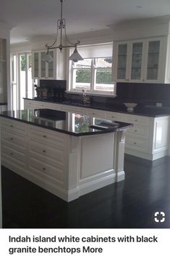
{"type": "Polygon", "coordinates": [[[52,109],[4,111],[0,112],[0,116],[73,136],[118,132],[132,127],[132,124],[52,109]]]}

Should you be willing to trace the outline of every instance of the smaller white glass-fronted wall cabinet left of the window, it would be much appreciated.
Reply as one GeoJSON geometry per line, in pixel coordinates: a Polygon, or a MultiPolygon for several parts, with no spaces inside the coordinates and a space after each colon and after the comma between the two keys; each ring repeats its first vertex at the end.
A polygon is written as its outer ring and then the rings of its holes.
{"type": "Polygon", "coordinates": [[[53,58],[46,62],[46,51],[33,52],[33,79],[65,79],[65,55],[58,49],[49,50],[53,58]]]}

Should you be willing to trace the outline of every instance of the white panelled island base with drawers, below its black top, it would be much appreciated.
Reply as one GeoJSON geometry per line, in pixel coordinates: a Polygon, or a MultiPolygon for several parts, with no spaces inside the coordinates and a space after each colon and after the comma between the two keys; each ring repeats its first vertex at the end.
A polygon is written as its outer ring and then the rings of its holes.
{"type": "Polygon", "coordinates": [[[0,121],[4,167],[65,201],[124,180],[124,131],[77,137],[0,121]]]}

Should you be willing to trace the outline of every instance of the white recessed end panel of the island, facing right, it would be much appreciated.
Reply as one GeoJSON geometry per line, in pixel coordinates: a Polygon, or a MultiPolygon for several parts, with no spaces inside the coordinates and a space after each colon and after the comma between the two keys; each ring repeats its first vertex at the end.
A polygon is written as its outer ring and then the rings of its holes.
{"type": "MultiPolygon", "coordinates": [[[[82,136],[80,140],[77,140],[77,138],[72,138],[72,140],[75,140],[75,142],[72,142],[72,147],[70,147],[69,161],[72,162],[73,151],[78,156],[78,161],[74,164],[77,170],[75,193],[82,196],[85,193],[116,182],[116,172],[114,170],[114,132],[103,135],[82,136]]],[[[71,172],[73,173],[73,170],[69,169],[69,173],[71,172]]],[[[72,175],[69,175],[69,178],[72,180],[72,175]]],[[[69,193],[72,195],[72,190],[69,193]]]]}

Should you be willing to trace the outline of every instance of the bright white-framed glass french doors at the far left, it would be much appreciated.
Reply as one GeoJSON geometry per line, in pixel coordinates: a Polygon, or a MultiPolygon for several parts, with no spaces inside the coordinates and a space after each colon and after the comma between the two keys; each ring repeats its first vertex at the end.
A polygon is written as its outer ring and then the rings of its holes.
{"type": "Polygon", "coordinates": [[[31,53],[12,54],[12,110],[23,109],[23,97],[34,97],[31,53]]]}

